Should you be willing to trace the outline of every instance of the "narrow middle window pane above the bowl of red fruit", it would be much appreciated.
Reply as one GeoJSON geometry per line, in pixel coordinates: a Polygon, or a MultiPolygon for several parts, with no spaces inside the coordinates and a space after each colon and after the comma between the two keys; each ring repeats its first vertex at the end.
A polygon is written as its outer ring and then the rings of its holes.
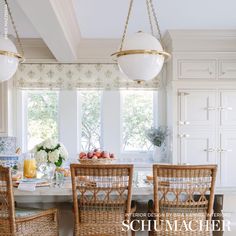
{"type": "Polygon", "coordinates": [[[101,92],[80,92],[81,98],[81,150],[101,147],[101,92]]]}

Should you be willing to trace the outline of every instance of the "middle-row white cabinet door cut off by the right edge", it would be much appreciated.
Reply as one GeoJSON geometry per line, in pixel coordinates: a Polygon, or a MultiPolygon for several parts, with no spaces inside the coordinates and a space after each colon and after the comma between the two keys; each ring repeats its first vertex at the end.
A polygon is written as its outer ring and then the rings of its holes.
{"type": "Polygon", "coordinates": [[[236,90],[220,91],[220,125],[236,127],[236,90]]]}

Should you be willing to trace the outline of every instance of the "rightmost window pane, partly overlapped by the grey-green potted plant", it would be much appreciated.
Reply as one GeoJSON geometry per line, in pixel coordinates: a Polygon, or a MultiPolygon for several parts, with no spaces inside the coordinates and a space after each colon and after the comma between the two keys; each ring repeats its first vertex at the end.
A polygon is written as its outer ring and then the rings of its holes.
{"type": "Polygon", "coordinates": [[[145,132],[153,126],[152,91],[122,92],[122,150],[149,151],[151,143],[145,132]]]}

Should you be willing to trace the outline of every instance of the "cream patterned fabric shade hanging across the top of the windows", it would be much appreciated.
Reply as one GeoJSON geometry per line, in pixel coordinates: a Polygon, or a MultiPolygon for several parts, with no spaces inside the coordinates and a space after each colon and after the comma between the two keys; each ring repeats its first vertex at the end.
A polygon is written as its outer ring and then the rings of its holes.
{"type": "Polygon", "coordinates": [[[21,89],[157,89],[159,78],[137,83],[116,64],[21,64],[14,77],[21,89]]]}

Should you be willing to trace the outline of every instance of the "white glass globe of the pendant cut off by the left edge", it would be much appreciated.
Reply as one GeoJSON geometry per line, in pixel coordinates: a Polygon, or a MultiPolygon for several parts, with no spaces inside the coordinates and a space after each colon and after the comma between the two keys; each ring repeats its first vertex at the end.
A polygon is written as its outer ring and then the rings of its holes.
{"type": "MultiPolygon", "coordinates": [[[[4,37],[0,38],[0,51],[17,53],[13,42],[4,37]]],[[[16,73],[18,64],[18,58],[0,54],[0,82],[10,79],[16,73]]]]}

